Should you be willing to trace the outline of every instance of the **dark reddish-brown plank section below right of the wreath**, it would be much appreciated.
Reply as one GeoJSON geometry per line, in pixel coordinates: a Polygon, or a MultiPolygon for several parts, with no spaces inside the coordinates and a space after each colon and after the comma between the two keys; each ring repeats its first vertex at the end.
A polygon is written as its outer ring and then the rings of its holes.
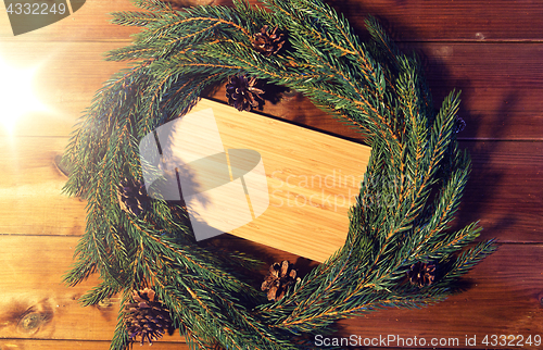
{"type": "MultiPolygon", "coordinates": [[[[230,242],[231,247],[243,247],[241,242],[230,242]]],[[[261,259],[268,263],[289,260],[304,275],[313,263],[281,251],[265,251],[255,248],[261,259]]],[[[248,250],[249,251],[249,250],[248,250]]],[[[541,300],[543,293],[543,246],[542,245],[501,245],[493,253],[471,272],[463,283],[463,292],[450,297],[444,302],[420,310],[387,309],[364,316],[343,320],[337,324],[334,337],[362,337],[372,339],[389,335],[401,338],[425,338],[428,348],[438,349],[508,349],[513,347],[484,346],[485,335],[539,335],[543,341],[543,314],[541,300]],[[466,336],[477,337],[476,347],[465,345],[466,336]],[[458,338],[459,346],[431,347],[432,338],[458,338]]],[[[262,271],[264,278],[265,268],[262,271]]],[[[520,338],[519,338],[520,339],[520,338]]],[[[490,339],[489,339],[490,340],[490,339]]],[[[517,339],[518,340],[518,339],[517,339]]],[[[401,343],[400,343],[401,345],[401,343]]],[[[383,346],[381,343],[381,346],[383,346]]],[[[384,343],[387,346],[387,343],[384,343]]],[[[390,349],[402,348],[395,342],[388,343],[390,349]]],[[[325,347],[321,347],[325,349],[325,347]]],[[[361,349],[382,349],[380,347],[359,347],[361,349]]],[[[387,347],[386,347],[387,348],[387,347]]],[[[418,349],[420,347],[404,348],[418,349]]],[[[358,349],[354,347],[353,349],[358,349]]],[[[541,346],[525,345],[522,349],[541,349],[541,346]]]]}

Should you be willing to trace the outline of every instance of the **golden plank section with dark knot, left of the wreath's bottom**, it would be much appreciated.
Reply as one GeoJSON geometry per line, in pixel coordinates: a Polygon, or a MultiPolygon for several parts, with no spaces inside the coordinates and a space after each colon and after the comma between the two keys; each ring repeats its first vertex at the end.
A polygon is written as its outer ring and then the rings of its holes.
{"type": "MultiPolygon", "coordinates": [[[[77,240],[78,237],[0,235],[0,339],[112,338],[119,299],[83,308],[78,298],[98,283],[96,276],[76,287],[62,284],[77,240]]],[[[179,335],[167,339],[181,341],[179,335]]]]}

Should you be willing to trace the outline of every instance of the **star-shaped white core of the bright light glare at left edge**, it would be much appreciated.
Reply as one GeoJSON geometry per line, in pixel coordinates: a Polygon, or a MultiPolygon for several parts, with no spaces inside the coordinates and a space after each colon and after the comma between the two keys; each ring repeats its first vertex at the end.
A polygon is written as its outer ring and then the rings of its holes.
{"type": "Polygon", "coordinates": [[[22,115],[47,110],[34,93],[36,71],[37,67],[21,70],[0,59],[0,123],[9,132],[22,115]]]}

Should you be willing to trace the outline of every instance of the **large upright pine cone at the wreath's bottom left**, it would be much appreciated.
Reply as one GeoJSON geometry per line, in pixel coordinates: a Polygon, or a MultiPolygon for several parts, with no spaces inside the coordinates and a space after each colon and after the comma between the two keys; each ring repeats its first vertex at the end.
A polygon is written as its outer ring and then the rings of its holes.
{"type": "Polygon", "coordinates": [[[125,305],[125,310],[128,310],[125,323],[130,341],[141,337],[141,345],[146,339],[152,345],[154,340],[162,338],[164,333],[173,330],[169,312],[155,300],[154,290],[135,290],[132,297],[135,302],[125,305]]]}

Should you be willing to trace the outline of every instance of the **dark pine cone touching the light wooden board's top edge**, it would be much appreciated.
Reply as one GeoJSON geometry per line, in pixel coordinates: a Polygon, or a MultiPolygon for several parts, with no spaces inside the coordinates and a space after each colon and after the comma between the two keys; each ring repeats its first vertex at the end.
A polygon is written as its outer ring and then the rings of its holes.
{"type": "Polygon", "coordinates": [[[231,76],[226,85],[226,97],[228,104],[238,111],[251,111],[253,107],[260,107],[264,100],[260,97],[263,90],[254,87],[256,78],[248,79],[247,76],[231,76]]]}

